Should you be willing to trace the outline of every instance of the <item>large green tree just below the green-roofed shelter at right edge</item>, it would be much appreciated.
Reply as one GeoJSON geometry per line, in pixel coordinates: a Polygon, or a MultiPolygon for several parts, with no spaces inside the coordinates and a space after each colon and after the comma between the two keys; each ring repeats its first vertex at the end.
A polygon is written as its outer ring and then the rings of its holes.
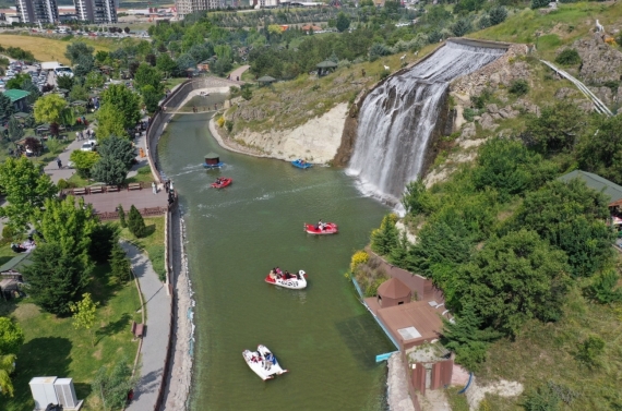
{"type": "Polygon", "coordinates": [[[516,213],[516,228],[536,231],[563,250],[574,277],[589,277],[611,257],[613,231],[607,226],[607,196],[584,181],[551,181],[529,193],[516,213]]]}

